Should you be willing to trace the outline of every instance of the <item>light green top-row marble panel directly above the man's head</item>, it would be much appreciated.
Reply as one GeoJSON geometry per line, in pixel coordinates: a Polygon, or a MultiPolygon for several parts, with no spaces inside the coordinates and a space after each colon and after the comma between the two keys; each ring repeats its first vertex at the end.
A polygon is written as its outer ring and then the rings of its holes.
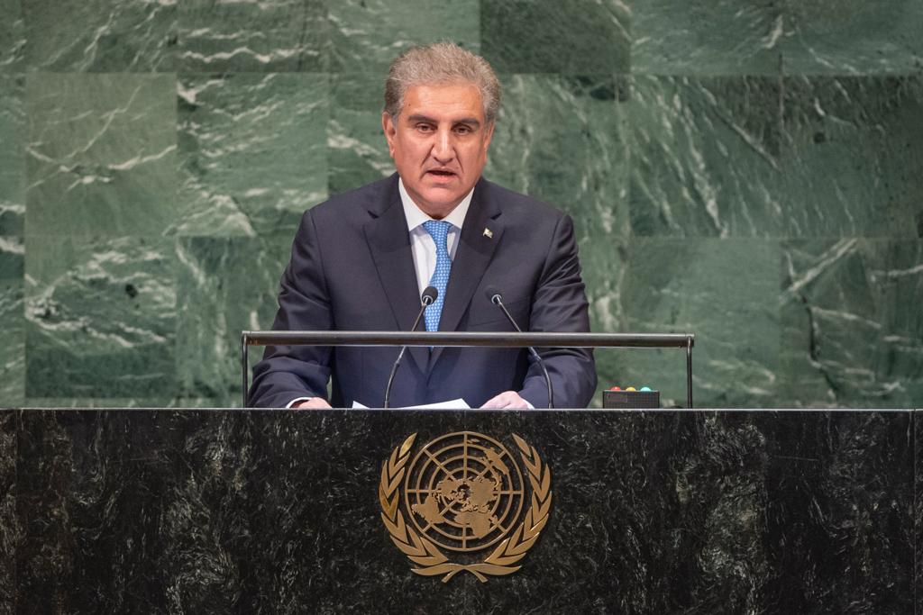
{"type": "Polygon", "coordinates": [[[330,4],[330,71],[382,78],[411,45],[452,41],[477,53],[478,0],[341,0],[330,4]]]}

